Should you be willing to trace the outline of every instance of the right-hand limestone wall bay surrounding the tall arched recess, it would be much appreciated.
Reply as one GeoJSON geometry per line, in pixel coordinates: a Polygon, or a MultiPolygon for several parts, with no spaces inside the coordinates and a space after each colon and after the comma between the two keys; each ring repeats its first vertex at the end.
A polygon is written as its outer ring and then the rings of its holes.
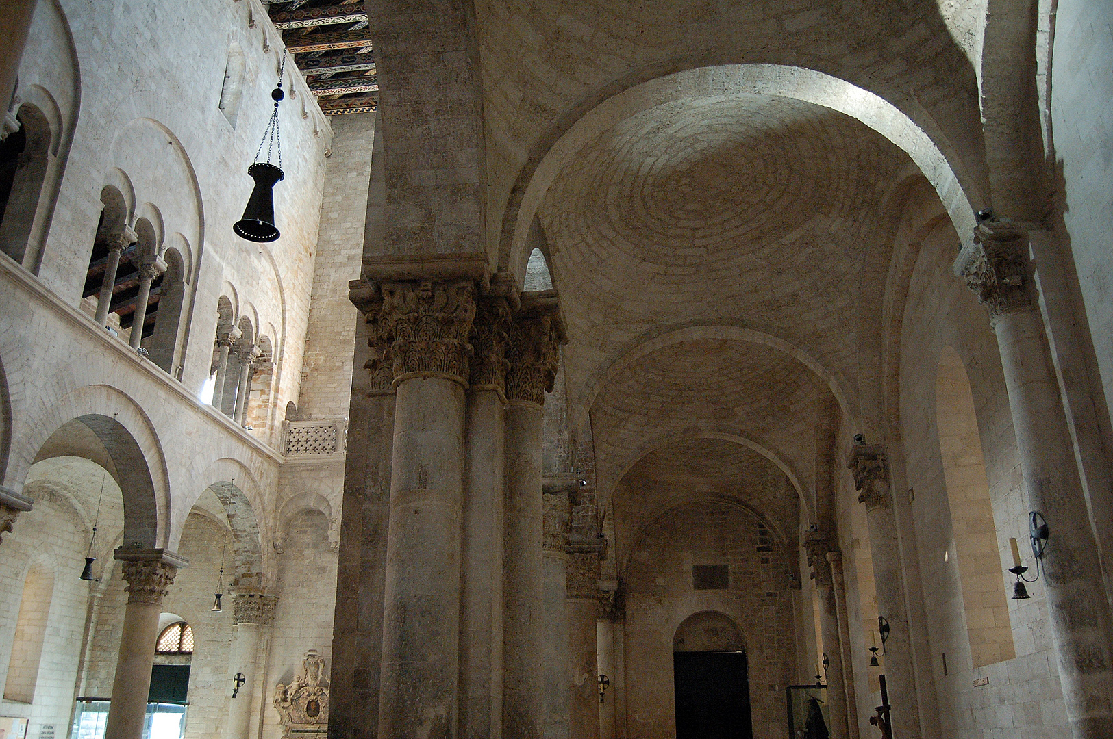
{"type": "MultiPolygon", "coordinates": [[[[995,529],[989,565],[1001,572],[1012,566],[1009,537],[1027,550],[1027,507],[996,341],[985,309],[953,276],[954,243],[949,228],[922,234],[900,338],[900,433],[918,542],[918,551],[905,556],[918,557],[939,731],[961,739],[1037,729],[1041,736],[1065,737],[1067,729],[1054,728],[1064,726],[1065,715],[1041,585],[1031,587],[1031,600],[1011,600],[1011,575],[999,589],[985,588],[967,581],[959,561],[971,556],[972,535],[968,522],[962,528],[952,516],[948,485],[955,480],[945,475],[936,417],[946,347],[969,378],[977,435],[967,443],[979,445],[983,453],[995,529]],[[995,630],[1011,636],[1015,658],[994,660],[986,633],[995,630]],[[983,662],[989,663],[975,667],[983,662]],[[975,687],[979,678],[988,685],[975,687]]],[[[1031,551],[1023,556],[1031,566],[1031,551]]]]}

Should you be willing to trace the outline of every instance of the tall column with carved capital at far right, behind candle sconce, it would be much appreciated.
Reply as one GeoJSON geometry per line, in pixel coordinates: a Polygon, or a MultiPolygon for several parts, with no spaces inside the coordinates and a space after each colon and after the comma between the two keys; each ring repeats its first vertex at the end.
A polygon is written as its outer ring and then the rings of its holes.
{"type": "Polygon", "coordinates": [[[993,219],[977,227],[955,266],[989,308],[1028,506],[1051,528],[1042,582],[1071,730],[1076,739],[1113,737],[1113,623],[1097,595],[1097,545],[1028,252],[1023,228],[993,219]]]}

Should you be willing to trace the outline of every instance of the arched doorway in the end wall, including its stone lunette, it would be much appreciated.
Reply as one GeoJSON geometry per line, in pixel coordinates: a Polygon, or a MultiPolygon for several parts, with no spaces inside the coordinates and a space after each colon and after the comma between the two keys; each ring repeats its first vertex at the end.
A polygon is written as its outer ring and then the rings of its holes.
{"type": "Polygon", "coordinates": [[[689,616],[672,638],[677,739],[752,739],[746,650],[735,622],[689,616]]]}

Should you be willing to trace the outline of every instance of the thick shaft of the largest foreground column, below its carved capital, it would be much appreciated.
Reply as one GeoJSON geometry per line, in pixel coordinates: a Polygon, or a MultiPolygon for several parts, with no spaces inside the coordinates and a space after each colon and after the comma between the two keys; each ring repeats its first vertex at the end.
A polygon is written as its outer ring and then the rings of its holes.
{"type": "Polygon", "coordinates": [[[455,733],[464,390],[397,385],[386,545],[380,739],[455,733]]]}

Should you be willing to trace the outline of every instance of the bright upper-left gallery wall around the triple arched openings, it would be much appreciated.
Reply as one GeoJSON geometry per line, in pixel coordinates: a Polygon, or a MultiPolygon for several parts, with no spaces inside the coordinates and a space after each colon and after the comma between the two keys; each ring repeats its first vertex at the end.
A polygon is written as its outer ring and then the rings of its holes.
{"type": "MultiPolygon", "coordinates": [[[[171,373],[190,393],[200,390],[209,376],[217,298],[227,294],[237,317],[248,317],[256,336],[274,344],[273,415],[297,397],[331,146],[328,124],[290,62],[279,113],[286,177],[275,188],[283,237],[248,244],[233,234],[253,186],[246,168],[272,110],[283,54],[278,32],[254,1],[194,7],[189,33],[180,32],[185,16],[176,17],[186,11],[167,14],[158,2],[39,6],[17,96],[58,101],[55,143],[65,174],[57,194],[45,190],[52,219],[32,271],[63,302],[81,301],[101,188],[116,187],[129,222],[148,218],[158,246],[183,257],[187,296],[171,373]],[[243,68],[226,82],[233,56],[243,68]],[[220,109],[226,86],[239,90],[238,113],[230,118],[220,109]]],[[[258,433],[270,443],[278,436],[274,423],[258,433]]]]}

